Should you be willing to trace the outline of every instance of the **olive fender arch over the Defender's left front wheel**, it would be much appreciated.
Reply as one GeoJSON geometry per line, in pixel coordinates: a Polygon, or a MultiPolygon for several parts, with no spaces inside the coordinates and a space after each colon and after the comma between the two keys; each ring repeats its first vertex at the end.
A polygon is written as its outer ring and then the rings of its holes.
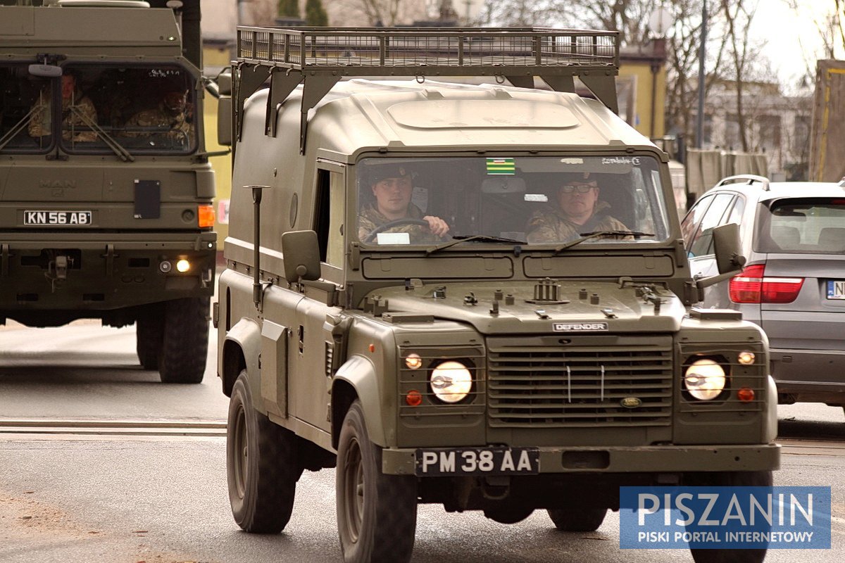
{"type": "MultiPolygon", "coordinates": [[[[355,389],[357,398],[361,401],[364,411],[364,422],[367,424],[367,431],[370,440],[382,447],[387,447],[388,440],[395,443],[395,430],[390,430],[390,436],[384,433],[384,401],[381,400],[379,380],[376,377],[373,362],[360,355],[353,355],[346,363],[341,365],[335,374],[335,381],[332,383],[332,401],[335,401],[335,388],[337,382],[347,382],[355,389]]],[[[340,427],[342,420],[333,420],[332,425],[340,427]]]]}

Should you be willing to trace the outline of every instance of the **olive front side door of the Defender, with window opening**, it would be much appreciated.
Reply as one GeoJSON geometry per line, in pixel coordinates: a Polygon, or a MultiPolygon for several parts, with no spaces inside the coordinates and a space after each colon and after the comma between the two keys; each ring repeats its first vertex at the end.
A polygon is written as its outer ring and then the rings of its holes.
{"type": "Polygon", "coordinates": [[[291,381],[292,409],[298,419],[328,431],[330,360],[334,342],[326,315],[335,306],[343,284],[345,166],[321,162],[314,182],[313,229],[317,232],[321,279],[303,282],[293,327],[292,360],[297,377],[291,381]],[[328,328],[327,328],[328,327],[328,328]]]}

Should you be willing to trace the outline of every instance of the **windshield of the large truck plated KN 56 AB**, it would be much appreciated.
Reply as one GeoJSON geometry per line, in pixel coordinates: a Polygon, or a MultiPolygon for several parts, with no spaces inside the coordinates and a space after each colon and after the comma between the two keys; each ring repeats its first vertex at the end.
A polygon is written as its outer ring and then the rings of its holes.
{"type": "Polygon", "coordinates": [[[196,149],[194,84],[177,66],[68,64],[58,78],[0,65],[0,152],[173,154],[196,149]]]}

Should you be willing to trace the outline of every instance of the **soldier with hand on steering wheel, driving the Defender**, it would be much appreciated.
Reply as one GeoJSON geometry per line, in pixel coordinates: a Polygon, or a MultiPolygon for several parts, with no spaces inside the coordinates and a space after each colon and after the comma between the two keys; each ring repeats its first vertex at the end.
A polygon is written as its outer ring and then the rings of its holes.
{"type": "Polygon", "coordinates": [[[406,165],[370,165],[368,168],[372,170],[366,176],[367,184],[375,199],[365,203],[358,214],[358,238],[361,241],[373,242],[374,230],[394,222],[395,226],[379,232],[408,233],[412,244],[444,240],[449,225],[439,217],[423,215],[423,211],[411,203],[413,181],[406,165]],[[421,221],[428,225],[423,225],[421,221]]]}

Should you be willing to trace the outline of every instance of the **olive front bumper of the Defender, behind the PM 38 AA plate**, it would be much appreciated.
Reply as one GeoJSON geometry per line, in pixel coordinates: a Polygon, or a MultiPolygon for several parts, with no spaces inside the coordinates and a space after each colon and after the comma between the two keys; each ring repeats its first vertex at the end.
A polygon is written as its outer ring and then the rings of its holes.
{"type": "MultiPolygon", "coordinates": [[[[415,474],[414,448],[385,448],[382,471],[415,474]]],[[[780,468],[778,444],[747,446],[541,447],[540,474],[769,471],[780,468]]]]}

